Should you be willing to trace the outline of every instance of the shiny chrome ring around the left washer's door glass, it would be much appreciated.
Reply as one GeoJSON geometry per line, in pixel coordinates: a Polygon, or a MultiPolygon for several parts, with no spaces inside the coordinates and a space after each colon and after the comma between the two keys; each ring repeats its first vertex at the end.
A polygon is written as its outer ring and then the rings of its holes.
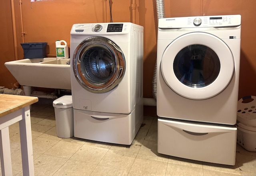
{"type": "Polygon", "coordinates": [[[104,93],[112,90],[120,83],[124,76],[126,63],[124,54],[116,43],[105,37],[89,37],[76,47],[72,66],[76,80],[84,89],[93,93],[104,93]],[[102,83],[96,84],[95,82],[90,81],[81,70],[81,58],[84,58],[84,53],[92,48],[92,46],[102,47],[114,56],[115,65],[112,76],[102,83]]]}

